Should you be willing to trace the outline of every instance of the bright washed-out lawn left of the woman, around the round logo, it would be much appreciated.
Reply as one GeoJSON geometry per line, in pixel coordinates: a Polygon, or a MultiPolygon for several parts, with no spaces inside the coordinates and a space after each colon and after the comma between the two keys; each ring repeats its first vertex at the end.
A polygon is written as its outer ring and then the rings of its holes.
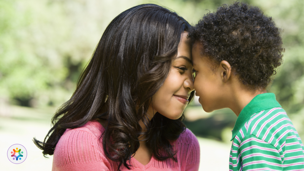
{"type": "Polygon", "coordinates": [[[9,110],[6,116],[0,115],[0,170],[51,170],[53,156],[44,158],[32,139],[43,140],[51,128],[50,119],[55,109],[6,106],[6,110],[9,110]],[[21,144],[27,150],[26,160],[20,164],[10,162],[6,156],[13,144],[21,144]]]}

